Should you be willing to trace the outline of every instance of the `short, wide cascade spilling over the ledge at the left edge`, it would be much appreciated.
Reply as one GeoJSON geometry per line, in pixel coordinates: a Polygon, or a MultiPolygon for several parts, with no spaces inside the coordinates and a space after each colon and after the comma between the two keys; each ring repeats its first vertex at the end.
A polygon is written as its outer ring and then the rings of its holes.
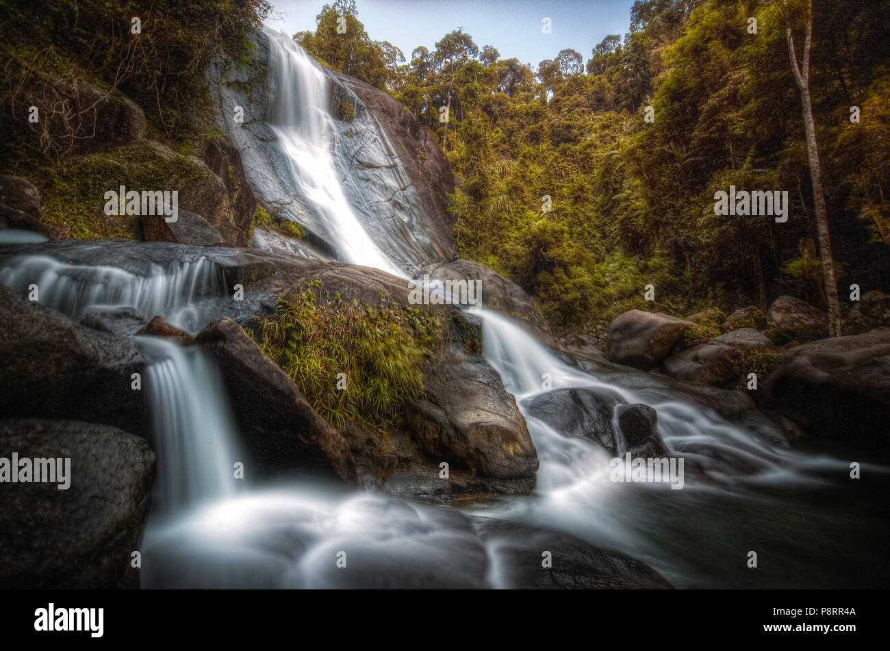
{"type": "Polygon", "coordinates": [[[62,262],[48,255],[14,258],[0,268],[0,283],[27,295],[36,285],[38,301],[76,321],[86,312],[133,308],[147,320],[194,332],[206,323],[214,299],[226,291],[223,270],[200,258],[175,262],[170,269],[152,265],[145,276],[110,266],[62,262]]]}

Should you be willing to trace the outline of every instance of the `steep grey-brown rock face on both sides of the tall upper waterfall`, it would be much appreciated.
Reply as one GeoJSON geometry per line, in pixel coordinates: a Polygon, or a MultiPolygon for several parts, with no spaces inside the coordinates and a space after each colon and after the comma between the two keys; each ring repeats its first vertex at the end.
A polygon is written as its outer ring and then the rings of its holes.
{"type": "MultiPolygon", "coordinates": [[[[269,87],[274,83],[268,69],[270,36],[255,33],[251,38],[256,48],[247,65],[214,60],[208,68],[218,120],[241,154],[257,199],[272,213],[303,226],[307,245],[336,258],[334,240],[312,197],[303,196],[287,174],[279,173],[288,161],[268,124],[273,110],[269,87]],[[243,123],[234,121],[236,106],[246,109],[243,123]]],[[[344,103],[352,107],[352,119],[332,125],[339,144],[336,165],[344,193],[369,235],[404,269],[416,271],[453,258],[453,216],[446,206],[454,176],[432,134],[386,92],[327,68],[324,74],[335,115],[344,103]]],[[[205,213],[190,210],[216,226],[205,213]]]]}

